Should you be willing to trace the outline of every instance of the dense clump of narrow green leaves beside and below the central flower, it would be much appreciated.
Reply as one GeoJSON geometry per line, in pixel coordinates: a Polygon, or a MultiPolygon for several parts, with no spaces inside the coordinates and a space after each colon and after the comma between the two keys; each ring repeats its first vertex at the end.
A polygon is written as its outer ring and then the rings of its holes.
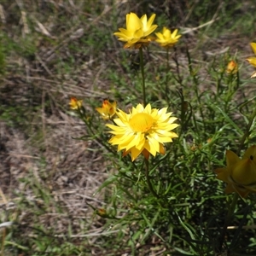
{"type": "MultiPolygon", "coordinates": [[[[236,149],[241,145],[244,148],[248,143],[241,142],[241,137],[247,132],[247,118],[255,103],[254,99],[248,102],[238,98],[243,94],[246,81],[240,80],[239,73],[225,71],[234,56],[220,55],[205,67],[195,67],[189,51],[187,58],[189,78],[185,74],[177,77],[175,70],[164,73],[161,65],[151,76],[150,61],[145,67],[147,101],[157,99],[152,102],[154,107],[169,105],[180,120],[179,137],[174,143],[166,144],[166,155],[151,157],[149,161],[150,183],[157,196],[148,188],[143,158],[131,165],[129,156],[120,159],[113,151],[108,154],[108,160],[113,160],[109,171],[116,171],[97,191],[111,188],[111,196],[106,201],[109,210],[104,218],[113,219],[112,225],[127,228],[136,223],[130,243],[134,253],[137,251],[134,244],[146,245],[152,236],[169,253],[209,255],[219,250],[226,201],[223,184],[217,181],[213,170],[215,166],[223,166],[224,148],[236,149]],[[202,81],[201,73],[207,79],[202,81]],[[154,90],[154,76],[160,78],[158,90],[154,90]],[[166,89],[171,97],[165,94],[166,89]],[[154,96],[156,91],[158,94],[154,96]],[[240,142],[246,144],[240,145],[240,142]]],[[[179,65],[178,59],[175,63],[179,65]]],[[[129,100],[133,106],[137,104],[137,98],[129,100]]],[[[105,140],[106,137],[102,137],[101,142],[105,140]]],[[[237,214],[236,221],[243,218],[242,224],[245,224],[253,219],[254,200],[251,200],[250,209],[246,204],[242,206],[241,211],[247,212],[241,217],[237,214]]],[[[249,237],[247,231],[240,229],[239,233],[230,232],[229,236],[226,247],[230,251],[255,253],[248,239],[236,243],[238,236],[249,237]]]]}

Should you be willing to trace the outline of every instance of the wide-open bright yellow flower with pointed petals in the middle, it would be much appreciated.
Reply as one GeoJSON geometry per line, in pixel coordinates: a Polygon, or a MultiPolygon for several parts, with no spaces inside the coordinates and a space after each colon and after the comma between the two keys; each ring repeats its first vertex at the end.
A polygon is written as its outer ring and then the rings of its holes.
{"type": "Polygon", "coordinates": [[[107,125],[114,135],[109,143],[118,145],[118,151],[124,149],[123,156],[131,153],[132,161],[139,154],[146,159],[149,154],[165,154],[164,143],[172,143],[172,138],[177,137],[172,130],[178,126],[173,124],[177,118],[166,111],[167,108],[151,108],[150,104],[146,108],[138,104],[130,113],[119,110],[119,119],[113,119],[116,125],[107,125]]]}

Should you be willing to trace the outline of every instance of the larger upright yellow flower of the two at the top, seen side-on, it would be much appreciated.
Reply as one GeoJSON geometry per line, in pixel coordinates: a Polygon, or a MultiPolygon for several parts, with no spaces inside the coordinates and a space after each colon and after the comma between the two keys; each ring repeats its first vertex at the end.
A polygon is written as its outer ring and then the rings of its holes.
{"type": "Polygon", "coordinates": [[[140,48],[148,45],[151,41],[148,36],[154,32],[157,25],[152,25],[155,15],[151,15],[149,20],[147,15],[143,15],[141,19],[134,13],[126,15],[126,29],[119,28],[119,32],[113,34],[119,37],[119,41],[127,42],[124,48],[140,48]]]}

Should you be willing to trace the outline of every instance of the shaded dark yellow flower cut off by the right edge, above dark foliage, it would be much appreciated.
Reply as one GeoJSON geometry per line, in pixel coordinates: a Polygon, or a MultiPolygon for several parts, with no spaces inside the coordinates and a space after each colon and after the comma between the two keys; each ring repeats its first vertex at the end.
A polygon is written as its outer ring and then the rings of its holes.
{"type": "Polygon", "coordinates": [[[247,148],[242,159],[227,150],[226,162],[226,167],[215,170],[217,178],[227,183],[225,193],[237,192],[241,197],[256,193],[256,146],[247,148]]]}

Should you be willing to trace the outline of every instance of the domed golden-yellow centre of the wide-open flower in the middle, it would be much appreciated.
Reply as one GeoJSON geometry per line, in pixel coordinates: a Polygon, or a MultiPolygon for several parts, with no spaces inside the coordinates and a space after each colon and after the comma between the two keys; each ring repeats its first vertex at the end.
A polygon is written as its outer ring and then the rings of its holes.
{"type": "Polygon", "coordinates": [[[153,124],[154,119],[148,113],[136,113],[129,120],[131,129],[136,132],[147,132],[153,124]]]}

